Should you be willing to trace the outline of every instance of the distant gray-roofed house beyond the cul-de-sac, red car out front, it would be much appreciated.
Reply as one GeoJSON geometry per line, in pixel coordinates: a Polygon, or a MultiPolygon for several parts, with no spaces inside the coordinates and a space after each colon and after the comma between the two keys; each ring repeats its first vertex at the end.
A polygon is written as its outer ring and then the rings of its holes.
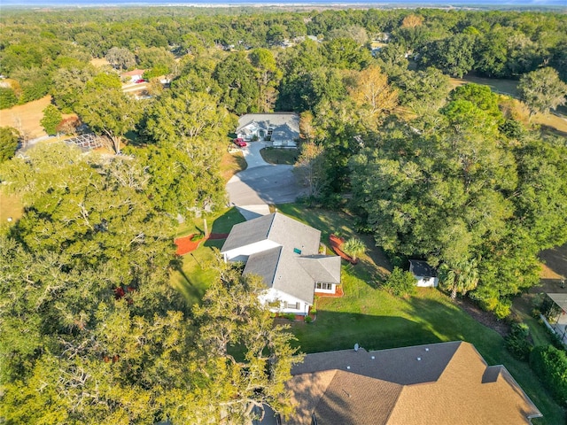
{"type": "Polygon", "coordinates": [[[247,113],[238,119],[237,137],[270,140],[274,146],[296,146],[299,115],[295,112],[247,113]]]}

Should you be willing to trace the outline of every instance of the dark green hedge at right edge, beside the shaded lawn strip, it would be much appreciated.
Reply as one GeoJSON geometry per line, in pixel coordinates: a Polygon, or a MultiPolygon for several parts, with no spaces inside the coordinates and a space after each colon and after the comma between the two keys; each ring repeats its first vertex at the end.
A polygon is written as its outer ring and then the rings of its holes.
{"type": "Polygon", "coordinates": [[[567,353],[553,345],[532,350],[530,366],[562,406],[567,406],[567,353]]]}

